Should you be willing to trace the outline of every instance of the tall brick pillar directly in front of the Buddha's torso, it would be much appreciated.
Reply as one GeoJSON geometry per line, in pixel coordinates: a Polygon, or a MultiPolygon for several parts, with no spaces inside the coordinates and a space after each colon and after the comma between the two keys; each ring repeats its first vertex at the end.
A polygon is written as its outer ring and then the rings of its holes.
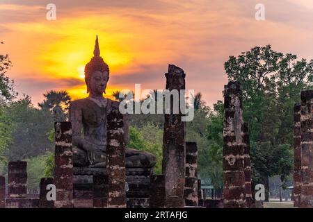
{"type": "Polygon", "coordinates": [[[126,207],[125,135],[123,116],[118,103],[113,104],[107,115],[106,169],[109,176],[109,208],[126,207]]]}

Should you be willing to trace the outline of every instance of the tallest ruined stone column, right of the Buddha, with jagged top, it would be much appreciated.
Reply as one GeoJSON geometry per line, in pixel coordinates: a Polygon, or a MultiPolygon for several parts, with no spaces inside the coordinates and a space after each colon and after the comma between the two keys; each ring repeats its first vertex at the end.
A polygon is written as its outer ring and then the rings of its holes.
{"type": "Polygon", "coordinates": [[[169,65],[166,76],[166,100],[170,100],[168,114],[164,115],[163,133],[163,163],[162,174],[165,176],[166,207],[184,207],[185,185],[185,123],[182,121],[180,103],[185,103],[184,94],[180,90],[185,89],[184,70],[169,65]],[[177,103],[179,102],[179,103],[177,103]],[[175,113],[175,111],[177,111],[175,113]]]}

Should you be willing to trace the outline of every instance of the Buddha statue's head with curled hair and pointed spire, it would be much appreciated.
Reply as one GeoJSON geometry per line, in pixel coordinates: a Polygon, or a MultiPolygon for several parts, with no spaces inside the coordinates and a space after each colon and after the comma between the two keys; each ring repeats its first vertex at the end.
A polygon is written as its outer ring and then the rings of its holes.
{"type": "Polygon", "coordinates": [[[85,67],[85,82],[87,85],[87,93],[94,95],[102,95],[106,93],[106,84],[109,80],[109,66],[100,57],[98,37],[95,42],[95,50],[93,58],[85,67]]]}

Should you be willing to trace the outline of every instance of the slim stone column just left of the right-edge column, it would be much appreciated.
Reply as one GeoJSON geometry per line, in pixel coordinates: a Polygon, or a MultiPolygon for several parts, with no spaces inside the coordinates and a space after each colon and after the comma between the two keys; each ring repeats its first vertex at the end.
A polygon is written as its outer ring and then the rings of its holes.
{"type": "Polygon", "coordinates": [[[294,105],[294,207],[300,206],[302,185],[300,108],[300,104],[294,105]]]}

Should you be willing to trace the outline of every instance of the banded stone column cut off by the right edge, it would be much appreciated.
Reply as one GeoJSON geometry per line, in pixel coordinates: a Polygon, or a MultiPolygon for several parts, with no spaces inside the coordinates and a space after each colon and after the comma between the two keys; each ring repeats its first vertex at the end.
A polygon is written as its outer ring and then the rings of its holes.
{"type": "Polygon", "coordinates": [[[313,90],[301,92],[301,168],[300,207],[313,207],[313,90]]]}

